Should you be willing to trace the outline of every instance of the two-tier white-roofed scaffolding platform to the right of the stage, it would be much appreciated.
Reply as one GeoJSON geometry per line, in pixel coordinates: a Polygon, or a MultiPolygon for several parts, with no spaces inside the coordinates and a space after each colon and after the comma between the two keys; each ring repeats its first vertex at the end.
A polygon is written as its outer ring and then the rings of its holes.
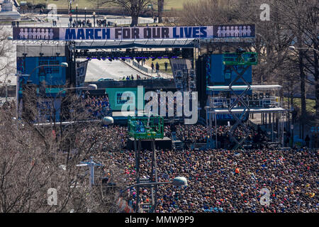
{"type": "MultiPolygon", "coordinates": [[[[223,92],[230,92],[230,86],[208,86],[207,90],[209,92],[208,102],[209,106],[206,106],[206,125],[208,126],[208,147],[210,148],[218,148],[218,130],[217,130],[217,121],[218,115],[221,114],[232,114],[240,115],[238,118],[236,116],[235,120],[239,119],[241,122],[237,123],[243,124],[242,116],[246,113],[248,114],[272,114],[272,143],[279,143],[281,146],[284,146],[284,121],[286,118],[286,109],[281,107],[281,98],[279,92],[281,90],[280,85],[239,85],[232,86],[231,89],[233,91],[242,92],[242,91],[250,91],[251,94],[245,94],[240,99],[242,102],[239,102],[238,95],[233,97],[225,97],[223,96],[223,92]],[[260,91],[267,91],[266,95],[258,93],[260,91]],[[219,92],[219,94],[216,94],[219,92]],[[230,110],[230,107],[233,107],[230,110]],[[249,111],[247,111],[249,108],[249,111]],[[274,118],[278,120],[277,127],[277,141],[274,141],[274,118]],[[213,126],[215,126],[215,140],[213,136],[213,126]]],[[[238,120],[237,120],[238,121],[238,120]]],[[[236,125],[236,123],[235,123],[236,125]]],[[[237,127],[236,127],[237,128],[237,127]]],[[[235,131],[235,130],[234,130],[235,131]]],[[[231,132],[233,133],[233,132],[231,132]]],[[[249,132],[247,132],[249,133],[249,132]]],[[[238,148],[242,146],[242,143],[245,140],[237,142],[238,148]]],[[[244,148],[243,148],[244,149],[244,148]]]]}

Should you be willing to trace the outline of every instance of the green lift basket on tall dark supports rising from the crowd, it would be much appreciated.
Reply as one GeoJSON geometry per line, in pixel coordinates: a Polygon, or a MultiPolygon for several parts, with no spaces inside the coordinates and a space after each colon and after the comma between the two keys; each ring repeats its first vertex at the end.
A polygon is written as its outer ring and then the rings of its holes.
{"type": "MultiPolygon", "coordinates": [[[[134,138],[135,150],[135,168],[136,168],[136,206],[135,212],[142,211],[154,213],[157,209],[157,162],[155,139],[164,138],[164,119],[161,116],[128,116],[128,135],[134,138]],[[140,178],[140,151],[141,141],[152,141],[152,161],[150,162],[150,177],[140,178]],[[145,186],[142,186],[145,184],[145,186]],[[147,204],[140,204],[140,188],[147,187],[151,189],[151,199],[147,204]],[[140,207],[142,205],[142,207],[140,207]]],[[[144,163],[145,166],[145,163],[144,163]]]]}

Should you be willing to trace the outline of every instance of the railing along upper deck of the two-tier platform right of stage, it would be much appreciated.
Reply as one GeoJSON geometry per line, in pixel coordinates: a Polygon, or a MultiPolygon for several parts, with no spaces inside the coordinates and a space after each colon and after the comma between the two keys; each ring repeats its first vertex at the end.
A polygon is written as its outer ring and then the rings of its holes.
{"type": "MultiPolygon", "coordinates": [[[[228,108],[230,104],[233,104],[235,99],[226,99],[221,97],[211,97],[210,99],[210,106],[212,108],[228,108]]],[[[264,99],[252,99],[252,100],[245,100],[246,104],[250,107],[258,107],[263,109],[268,108],[276,108],[280,107],[279,97],[270,96],[269,98],[264,99]]],[[[238,103],[235,108],[244,106],[241,103],[238,103]]]]}

